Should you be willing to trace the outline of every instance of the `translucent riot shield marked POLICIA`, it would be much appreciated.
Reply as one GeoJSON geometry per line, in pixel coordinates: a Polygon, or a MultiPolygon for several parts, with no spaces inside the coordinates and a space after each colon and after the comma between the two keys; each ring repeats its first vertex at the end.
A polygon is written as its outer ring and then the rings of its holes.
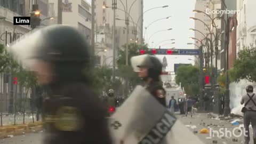
{"type": "Polygon", "coordinates": [[[203,144],[142,86],[110,117],[109,126],[116,144],[203,144]]]}

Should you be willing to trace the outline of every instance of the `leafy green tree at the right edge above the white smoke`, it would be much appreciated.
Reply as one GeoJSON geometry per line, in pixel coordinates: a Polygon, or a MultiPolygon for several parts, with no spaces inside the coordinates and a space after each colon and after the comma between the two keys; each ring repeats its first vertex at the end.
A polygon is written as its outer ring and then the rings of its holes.
{"type": "Polygon", "coordinates": [[[250,82],[256,82],[256,47],[250,45],[244,47],[238,52],[238,57],[235,60],[234,68],[230,72],[230,76],[236,82],[241,79],[247,79],[250,82]]]}

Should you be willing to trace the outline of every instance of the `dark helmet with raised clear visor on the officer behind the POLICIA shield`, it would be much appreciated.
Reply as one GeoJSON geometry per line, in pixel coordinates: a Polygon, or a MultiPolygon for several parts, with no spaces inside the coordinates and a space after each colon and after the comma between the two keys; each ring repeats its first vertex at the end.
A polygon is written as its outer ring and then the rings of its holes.
{"type": "MultiPolygon", "coordinates": [[[[160,81],[159,76],[162,73],[163,65],[162,62],[157,57],[147,54],[139,55],[136,57],[132,57],[131,63],[134,71],[138,71],[137,68],[147,68],[147,77],[152,78],[154,81],[160,81]]],[[[143,79],[147,79],[147,77],[143,79]]]]}

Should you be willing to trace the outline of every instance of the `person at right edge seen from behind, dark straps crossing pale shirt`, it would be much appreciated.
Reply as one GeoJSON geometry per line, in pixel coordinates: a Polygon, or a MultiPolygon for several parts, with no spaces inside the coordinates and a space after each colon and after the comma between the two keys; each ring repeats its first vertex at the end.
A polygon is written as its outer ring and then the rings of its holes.
{"type": "Polygon", "coordinates": [[[246,95],[243,95],[241,100],[241,105],[244,104],[242,112],[244,113],[244,128],[245,128],[245,142],[244,144],[249,144],[250,132],[249,125],[252,123],[253,129],[253,141],[256,144],[256,95],[253,93],[253,86],[248,85],[246,87],[246,95]]]}

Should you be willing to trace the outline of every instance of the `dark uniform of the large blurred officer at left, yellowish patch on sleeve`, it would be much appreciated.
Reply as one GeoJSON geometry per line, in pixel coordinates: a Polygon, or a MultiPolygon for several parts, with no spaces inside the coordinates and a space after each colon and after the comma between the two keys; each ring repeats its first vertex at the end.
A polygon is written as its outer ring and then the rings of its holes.
{"type": "Polygon", "coordinates": [[[85,84],[56,87],[44,104],[46,143],[111,143],[106,110],[85,84]]]}

